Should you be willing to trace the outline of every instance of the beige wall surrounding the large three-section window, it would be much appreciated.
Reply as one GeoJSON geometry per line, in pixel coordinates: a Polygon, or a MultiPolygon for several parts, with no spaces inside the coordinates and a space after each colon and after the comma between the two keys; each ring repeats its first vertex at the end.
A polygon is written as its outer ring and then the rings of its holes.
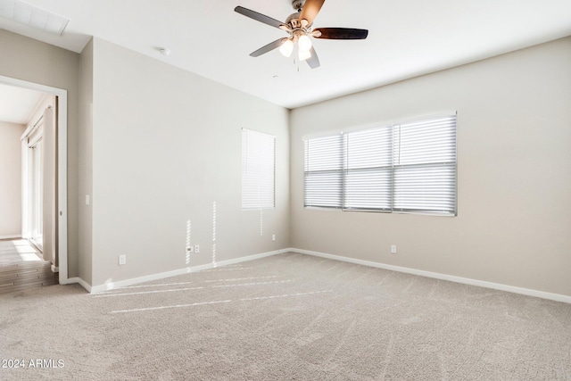
{"type": "Polygon", "coordinates": [[[567,37],[294,110],[292,245],[571,295],[570,67],[567,37]],[[303,137],[445,110],[458,217],[303,209],[303,137]]]}

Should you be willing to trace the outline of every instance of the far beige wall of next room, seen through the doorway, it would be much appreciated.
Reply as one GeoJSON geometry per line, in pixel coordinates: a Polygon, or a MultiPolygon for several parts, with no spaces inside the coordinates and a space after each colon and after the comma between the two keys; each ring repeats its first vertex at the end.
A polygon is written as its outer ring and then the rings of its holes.
{"type": "Polygon", "coordinates": [[[26,126],[0,121],[0,239],[21,236],[21,142],[26,126]]]}

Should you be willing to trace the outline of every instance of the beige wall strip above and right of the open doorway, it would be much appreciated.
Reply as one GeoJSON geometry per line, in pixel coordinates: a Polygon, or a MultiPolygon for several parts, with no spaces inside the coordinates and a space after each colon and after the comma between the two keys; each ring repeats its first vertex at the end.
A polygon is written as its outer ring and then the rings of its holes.
{"type": "Polygon", "coordinates": [[[68,91],[68,274],[78,275],[79,54],[0,29],[0,75],[68,91]]]}

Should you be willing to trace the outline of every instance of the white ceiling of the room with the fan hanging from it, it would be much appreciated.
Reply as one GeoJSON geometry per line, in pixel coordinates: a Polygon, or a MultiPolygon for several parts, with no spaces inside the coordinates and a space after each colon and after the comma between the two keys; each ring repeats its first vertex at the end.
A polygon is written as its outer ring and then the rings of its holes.
{"type": "Polygon", "coordinates": [[[571,35],[569,0],[327,0],[319,27],[368,29],[366,40],[314,40],[321,67],[277,50],[248,54],[285,32],[290,0],[26,0],[70,22],[62,37],[0,19],[0,28],[81,52],[91,36],[295,108],[571,35]],[[172,51],[159,54],[159,47],[172,51]]]}

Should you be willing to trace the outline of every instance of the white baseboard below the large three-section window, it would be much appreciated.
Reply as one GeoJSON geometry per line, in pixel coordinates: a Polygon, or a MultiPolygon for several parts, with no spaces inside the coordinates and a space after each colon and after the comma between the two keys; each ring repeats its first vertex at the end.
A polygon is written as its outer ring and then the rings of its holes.
{"type": "Polygon", "coordinates": [[[400,266],[387,265],[385,263],[378,263],[378,262],[373,262],[373,261],[363,261],[363,260],[358,260],[355,258],[343,257],[341,255],[312,252],[310,250],[302,250],[302,249],[291,248],[290,251],[294,252],[294,253],[301,253],[301,254],[307,254],[307,255],[312,255],[312,256],[321,257],[321,258],[327,258],[329,260],[350,262],[350,263],[355,263],[355,264],[359,264],[359,265],[363,265],[363,266],[375,267],[378,269],[388,269],[388,270],[392,270],[392,271],[404,272],[407,274],[419,275],[421,277],[434,277],[435,279],[448,280],[451,282],[462,283],[462,284],[470,285],[470,286],[480,286],[480,287],[485,287],[485,288],[492,288],[494,290],[507,291],[509,293],[515,293],[515,294],[524,294],[524,295],[528,295],[528,296],[534,296],[537,298],[549,299],[551,301],[556,301],[556,302],[571,303],[571,296],[562,295],[562,294],[545,293],[543,291],[532,290],[529,288],[501,285],[498,283],[486,282],[484,280],[470,279],[468,277],[455,277],[452,275],[440,274],[437,272],[424,271],[424,270],[420,270],[420,269],[404,268],[404,267],[400,267],[400,266]]]}

